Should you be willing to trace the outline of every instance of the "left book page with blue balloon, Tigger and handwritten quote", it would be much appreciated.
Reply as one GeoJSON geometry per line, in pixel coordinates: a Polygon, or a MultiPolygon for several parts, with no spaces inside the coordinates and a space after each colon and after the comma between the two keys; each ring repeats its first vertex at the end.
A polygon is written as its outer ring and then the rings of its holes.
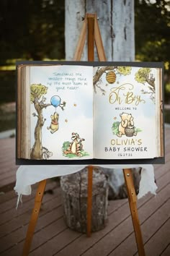
{"type": "Polygon", "coordinates": [[[93,68],[30,67],[30,158],[93,158],[93,68]]]}

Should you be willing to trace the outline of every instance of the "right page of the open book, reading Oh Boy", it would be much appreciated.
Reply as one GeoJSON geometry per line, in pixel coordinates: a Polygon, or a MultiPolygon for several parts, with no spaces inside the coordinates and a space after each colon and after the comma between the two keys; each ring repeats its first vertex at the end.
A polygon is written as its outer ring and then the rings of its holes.
{"type": "Polygon", "coordinates": [[[162,156],[160,70],[94,67],[94,158],[162,156]]]}

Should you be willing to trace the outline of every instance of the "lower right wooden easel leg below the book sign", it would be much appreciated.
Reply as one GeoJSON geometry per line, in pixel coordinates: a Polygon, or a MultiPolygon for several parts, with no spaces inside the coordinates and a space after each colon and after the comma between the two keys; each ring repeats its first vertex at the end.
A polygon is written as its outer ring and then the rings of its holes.
{"type": "Polygon", "coordinates": [[[137,209],[137,197],[135,194],[135,187],[133,184],[133,174],[132,170],[129,169],[123,169],[123,174],[125,177],[125,184],[128,191],[128,200],[130,205],[130,212],[133,220],[133,228],[135,231],[135,239],[138,246],[138,254],[139,256],[145,256],[145,250],[143,246],[143,238],[142,238],[142,232],[140,229],[140,223],[138,218],[138,209],[137,209]]]}

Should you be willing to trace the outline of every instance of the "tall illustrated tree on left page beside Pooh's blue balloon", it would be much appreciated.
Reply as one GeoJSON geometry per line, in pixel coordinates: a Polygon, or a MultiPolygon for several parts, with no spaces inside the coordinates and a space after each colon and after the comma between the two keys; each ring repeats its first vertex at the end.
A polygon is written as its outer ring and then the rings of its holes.
{"type": "Polygon", "coordinates": [[[45,104],[44,95],[48,92],[48,88],[45,85],[33,84],[30,87],[30,101],[34,104],[37,114],[33,113],[33,116],[37,116],[37,124],[35,127],[35,143],[31,150],[31,159],[42,159],[42,127],[45,123],[42,110],[51,106],[50,103],[45,104]],[[40,98],[42,97],[41,101],[40,98]]]}

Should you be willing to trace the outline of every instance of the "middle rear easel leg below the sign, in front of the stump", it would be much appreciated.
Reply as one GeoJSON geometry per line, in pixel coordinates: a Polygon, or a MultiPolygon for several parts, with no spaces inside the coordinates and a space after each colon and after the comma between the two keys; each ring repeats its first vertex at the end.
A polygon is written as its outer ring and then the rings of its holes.
{"type": "Polygon", "coordinates": [[[88,166],[88,191],[87,191],[87,213],[86,213],[86,236],[91,236],[91,211],[92,211],[92,187],[93,166],[88,166]]]}

